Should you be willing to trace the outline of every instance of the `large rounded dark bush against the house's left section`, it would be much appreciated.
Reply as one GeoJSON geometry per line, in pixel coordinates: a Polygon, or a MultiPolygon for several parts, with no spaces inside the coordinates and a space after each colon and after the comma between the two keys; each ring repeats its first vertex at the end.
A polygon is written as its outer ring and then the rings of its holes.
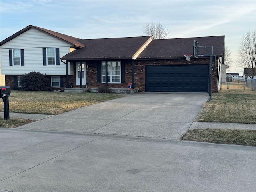
{"type": "Polygon", "coordinates": [[[40,72],[30,72],[20,77],[20,85],[24,91],[48,91],[50,80],[40,72]]]}

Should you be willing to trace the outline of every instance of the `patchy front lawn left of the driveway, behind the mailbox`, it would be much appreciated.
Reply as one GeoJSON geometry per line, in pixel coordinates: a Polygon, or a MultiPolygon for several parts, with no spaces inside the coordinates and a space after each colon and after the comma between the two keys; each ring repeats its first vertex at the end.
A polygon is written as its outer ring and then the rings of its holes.
{"type": "MultiPolygon", "coordinates": [[[[84,92],[12,91],[9,108],[10,112],[15,113],[56,115],[122,96],[84,92]]],[[[4,111],[3,102],[0,102],[0,109],[4,111]]]]}

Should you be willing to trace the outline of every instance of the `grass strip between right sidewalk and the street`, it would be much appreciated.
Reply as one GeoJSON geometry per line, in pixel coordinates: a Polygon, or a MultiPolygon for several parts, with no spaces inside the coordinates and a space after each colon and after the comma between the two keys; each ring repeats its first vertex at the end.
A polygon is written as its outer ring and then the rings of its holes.
{"type": "Polygon", "coordinates": [[[256,146],[256,130],[194,129],[188,130],[182,140],[256,146]]]}

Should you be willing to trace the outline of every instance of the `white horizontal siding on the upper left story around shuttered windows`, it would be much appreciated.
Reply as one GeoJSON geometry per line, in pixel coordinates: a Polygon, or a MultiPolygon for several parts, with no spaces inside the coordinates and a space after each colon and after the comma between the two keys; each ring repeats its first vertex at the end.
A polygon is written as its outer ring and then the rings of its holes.
{"type": "Polygon", "coordinates": [[[60,58],[70,52],[70,44],[47,35],[44,32],[30,29],[20,34],[1,46],[2,74],[19,75],[26,74],[31,71],[39,71],[42,74],[47,75],[65,75],[66,65],[61,61],[60,65],[57,66],[43,65],[42,49],[51,47],[59,48],[60,58]],[[24,49],[24,66],[13,67],[9,65],[10,49],[24,49]]]}

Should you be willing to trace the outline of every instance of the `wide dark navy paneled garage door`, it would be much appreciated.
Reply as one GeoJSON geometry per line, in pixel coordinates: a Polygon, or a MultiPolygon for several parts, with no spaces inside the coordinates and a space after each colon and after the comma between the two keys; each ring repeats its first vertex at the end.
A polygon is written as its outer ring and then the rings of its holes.
{"type": "Polygon", "coordinates": [[[208,92],[209,66],[146,66],[146,91],[208,92]]]}

